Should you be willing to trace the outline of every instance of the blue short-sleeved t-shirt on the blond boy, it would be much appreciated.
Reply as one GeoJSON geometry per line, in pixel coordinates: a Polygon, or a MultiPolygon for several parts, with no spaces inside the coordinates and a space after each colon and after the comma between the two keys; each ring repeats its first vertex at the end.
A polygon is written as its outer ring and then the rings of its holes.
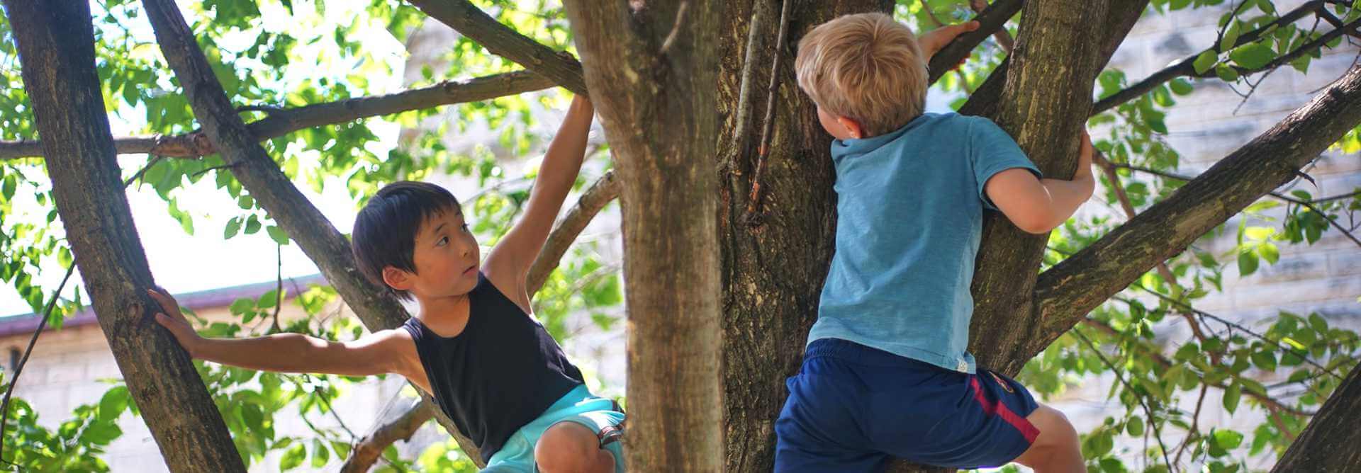
{"type": "Polygon", "coordinates": [[[947,370],[968,353],[983,185],[1021,167],[1021,147],[987,118],[923,114],[898,130],[832,141],[837,246],[808,343],[841,338],[947,370]]]}

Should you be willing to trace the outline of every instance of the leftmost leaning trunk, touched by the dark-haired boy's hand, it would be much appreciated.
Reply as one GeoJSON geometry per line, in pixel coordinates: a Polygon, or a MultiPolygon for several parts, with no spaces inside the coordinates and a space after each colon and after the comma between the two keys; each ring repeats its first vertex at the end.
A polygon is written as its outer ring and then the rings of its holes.
{"type": "Polygon", "coordinates": [[[94,69],[90,4],[7,0],[5,10],[71,251],[166,466],[171,472],[245,472],[188,353],[152,317],[162,309],[146,292],[155,283],[118,178],[94,69]]]}

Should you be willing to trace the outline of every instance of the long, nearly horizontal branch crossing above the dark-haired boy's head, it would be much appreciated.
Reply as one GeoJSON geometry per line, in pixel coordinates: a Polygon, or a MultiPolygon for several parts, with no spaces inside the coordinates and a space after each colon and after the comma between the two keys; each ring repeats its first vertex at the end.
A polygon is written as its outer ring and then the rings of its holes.
{"type": "MultiPolygon", "coordinates": [[[[528,71],[498,73],[470,80],[446,80],[430,87],[395,94],[276,109],[263,120],[246,125],[256,141],[276,139],[304,128],[343,124],[359,118],[431,109],[516,95],[553,87],[553,82],[528,71]]],[[[113,140],[118,154],[152,154],[166,158],[200,158],[218,152],[204,132],[174,136],[132,136],[113,140]]],[[[42,156],[35,140],[0,141],[0,159],[42,156]]]]}

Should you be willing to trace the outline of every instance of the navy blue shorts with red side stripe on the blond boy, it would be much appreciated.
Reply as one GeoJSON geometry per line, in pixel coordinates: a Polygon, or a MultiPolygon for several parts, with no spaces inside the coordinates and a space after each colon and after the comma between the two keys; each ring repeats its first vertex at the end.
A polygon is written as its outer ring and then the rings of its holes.
{"type": "Polygon", "coordinates": [[[845,340],[808,345],[776,420],[774,470],[882,472],[893,458],[958,469],[1011,462],[1040,435],[1011,378],[950,371],[845,340]]]}

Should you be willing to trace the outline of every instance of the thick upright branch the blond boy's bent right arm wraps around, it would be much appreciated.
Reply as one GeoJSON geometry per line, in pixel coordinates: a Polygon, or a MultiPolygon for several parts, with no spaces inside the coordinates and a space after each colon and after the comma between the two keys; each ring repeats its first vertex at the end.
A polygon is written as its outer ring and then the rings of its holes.
{"type": "MultiPolygon", "coordinates": [[[[1104,23],[1108,8],[1126,1],[1028,0],[1021,15],[1015,54],[995,121],[1010,133],[1040,171],[1068,178],[1078,163],[1078,136],[1092,107],[1092,86],[1105,63],[1104,23]],[[1064,64],[1055,68],[1053,64],[1064,64]]],[[[999,212],[985,212],[979,246],[970,323],[970,349],[979,366],[1007,374],[1025,359],[1011,353],[1029,338],[1037,314],[1029,288],[1044,257],[1045,235],[1021,231],[999,212]]]]}

